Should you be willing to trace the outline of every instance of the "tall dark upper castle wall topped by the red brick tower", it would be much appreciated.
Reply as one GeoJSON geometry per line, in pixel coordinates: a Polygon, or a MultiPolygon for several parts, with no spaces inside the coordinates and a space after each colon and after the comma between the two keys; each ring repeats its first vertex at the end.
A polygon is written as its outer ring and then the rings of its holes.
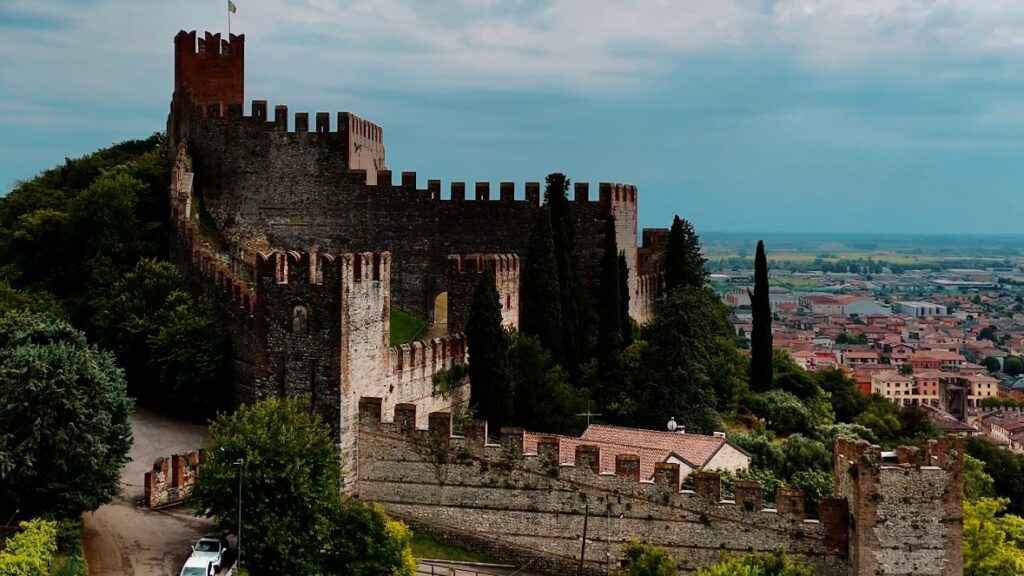
{"type": "MultiPolygon", "coordinates": [[[[175,38],[181,83],[168,134],[172,146],[187,142],[194,189],[218,234],[237,245],[300,252],[389,251],[393,301],[422,318],[447,289],[450,254],[523,254],[541,205],[539,182],[527,182],[522,197],[515,184],[502,182],[497,198],[489,182],[475,182],[468,194],[465,182],[452,182],[442,198],[440,180],[421,188],[415,172],[402,172],[400,182],[393,181],[384,164],[383,130],[350,113],[316,113],[312,129],[309,114],[295,114],[293,121],[284,106],[274,107],[271,118],[265,100],[253,100],[246,116],[243,92],[233,87],[244,41],[209,33],[175,38]],[[219,52],[210,50],[214,45],[219,52]],[[230,89],[222,95],[225,85],[230,89]]],[[[604,182],[596,199],[590,188],[577,182],[569,193],[584,280],[595,286],[602,223],[613,217],[635,291],[636,187],[604,182]]],[[[631,314],[651,316],[632,301],[631,314]]]]}

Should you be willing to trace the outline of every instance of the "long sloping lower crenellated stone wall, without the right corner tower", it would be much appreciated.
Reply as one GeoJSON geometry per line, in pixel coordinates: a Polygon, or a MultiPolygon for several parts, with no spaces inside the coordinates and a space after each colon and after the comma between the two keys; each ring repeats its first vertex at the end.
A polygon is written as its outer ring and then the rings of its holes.
{"type": "Polygon", "coordinates": [[[626,454],[616,457],[616,475],[599,475],[598,449],[589,446],[580,447],[574,466],[559,466],[556,439],[542,442],[539,455],[523,455],[521,429],[503,429],[500,445],[485,445],[485,423],[473,422],[450,439],[446,414],[431,414],[429,430],[412,430],[410,410],[380,424],[380,401],[362,402],[356,493],[455,543],[516,562],[540,557],[531,568],[573,574],[588,516],[591,574],[604,573],[607,554],[614,572],[623,544],[634,539],[667,547],[684,572],[724,551],[774,549],[803,557],[819,575],[849,570],[839,549],[844,539],[834,536],[846,526],[805,520],[799,492],[799,510],[762,510],[750,496],[720,501],[715,475],[700,474],[695,492],[680,491],[678,467],[660,465],[654,483],[640,482],[631,465],[638,462],[626,454]]]}

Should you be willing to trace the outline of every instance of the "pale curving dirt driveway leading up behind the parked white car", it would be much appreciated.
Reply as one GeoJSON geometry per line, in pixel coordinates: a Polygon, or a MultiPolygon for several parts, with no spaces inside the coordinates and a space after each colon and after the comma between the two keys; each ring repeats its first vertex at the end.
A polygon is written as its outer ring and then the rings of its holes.
{"type": "Polygon", "coordinates": [[[206,426],[173,420],[138,409],[132,415],[135,442],[121,472],[121,495],[85,515],[85,557],[92,576],[177,574],[189,545],[213,525],[184,507],[153,511],[136,505],[142,480],[160,456],[195,450],[206,441],[206,426]]]}

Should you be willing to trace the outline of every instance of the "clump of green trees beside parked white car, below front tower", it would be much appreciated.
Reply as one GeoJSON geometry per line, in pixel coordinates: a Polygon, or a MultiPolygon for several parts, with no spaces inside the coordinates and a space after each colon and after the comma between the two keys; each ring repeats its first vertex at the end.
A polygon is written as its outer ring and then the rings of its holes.
{"type": "Polygon", "coordinates": [[[341,454],[305,400],[271,398],[220,416],[206,454],[190,503],[233,528],[241,475],[242,562],[252,574],[414,573],[404,526],[340,500],[341,454]]]}

